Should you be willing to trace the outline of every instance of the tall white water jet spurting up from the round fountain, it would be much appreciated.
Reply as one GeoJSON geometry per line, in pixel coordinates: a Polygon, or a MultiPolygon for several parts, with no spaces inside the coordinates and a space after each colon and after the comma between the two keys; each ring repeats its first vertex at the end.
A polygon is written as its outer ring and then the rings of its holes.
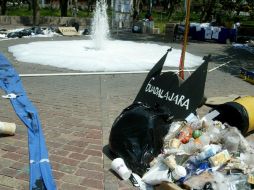
{"type": "Polygon", "coordinates": [[[96,9],[92,22],[92,39],[95,49],[105,48],[109,37],[109,24],[107,15],[107,3],[105,0],[96,1],[96,9]]]}

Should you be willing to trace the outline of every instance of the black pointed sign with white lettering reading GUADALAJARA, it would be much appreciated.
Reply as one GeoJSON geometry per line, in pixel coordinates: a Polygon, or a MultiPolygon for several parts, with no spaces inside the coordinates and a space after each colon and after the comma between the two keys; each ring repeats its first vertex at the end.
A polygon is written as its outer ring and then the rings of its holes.
{"type": "Polygon", "coordinates": [[[166,107],[175,119],[183,119],[202,102],[210,56],[204,57],[204,62],[183,81],[176,73],[161,73],[170,50],[148,73],[134,102],[166,107]]]}

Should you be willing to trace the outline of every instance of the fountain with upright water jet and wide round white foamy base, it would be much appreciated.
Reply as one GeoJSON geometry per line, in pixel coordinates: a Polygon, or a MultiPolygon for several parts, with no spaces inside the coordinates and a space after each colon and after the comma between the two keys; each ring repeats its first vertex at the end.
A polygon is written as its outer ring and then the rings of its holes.
{"type": "MultiPolygon", "coordinates": [[[[148,71],[164,55],[169,44],[109,40],[106,0],[97,0],[91,38],[69,41],[38,41],[9,47],[18,61],[78,71],[148,71]]],[[[128,35],[128,34],[127,34],[128,35]]],[[[141,34],[142,35],[142,34],[141,34]]],[[[64,38],[64,37],[63,37],[64,38]]],[[[173,49],[164,66],[178,68],[181,50],[173,49]]],[[[186,68],[202,58],[186,53],[186,68]]]]}

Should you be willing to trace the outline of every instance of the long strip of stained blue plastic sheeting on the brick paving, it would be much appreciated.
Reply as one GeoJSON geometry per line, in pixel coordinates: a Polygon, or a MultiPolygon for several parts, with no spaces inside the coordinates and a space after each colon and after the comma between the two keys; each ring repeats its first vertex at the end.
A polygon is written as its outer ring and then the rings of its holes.
{"type": "Polygon", "coordinates": [[[21,79],[8,60],[0,53],[0,88],[6,94],[15,94],[11,104],[28,129],[30,159],[30,190],[55,190],[48,151],[36,108],[28,99],[21,79]]]}

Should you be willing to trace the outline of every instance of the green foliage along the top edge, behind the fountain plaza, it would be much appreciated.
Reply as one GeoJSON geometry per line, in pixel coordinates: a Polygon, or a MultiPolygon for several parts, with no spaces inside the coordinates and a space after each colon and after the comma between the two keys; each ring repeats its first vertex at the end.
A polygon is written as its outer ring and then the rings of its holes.
{"type": "MultiPolygon", "coordinates": [[[[163,0],[161,0],[162,2],[163,0]]],[[[165,0],[166,1],[166,0],[165,0]]],[[[211,14],[213,18],[219,17],[221,22],[226,21],[236,21],[239,19],[241,23],[247,23],[253,25],[254,20],[254,0],[246,0],[247,5],[244,5],[244,0],[235,0],[235,3],[232,3],[232,0],[192,0],[191,1],[191,22],[199,22],[201,18],[202,11],[206,10],[211,2],[215,3],[214,6],[210,6],[211,14]],[[236,14],[237,10],[248,10],[252,17],[238,16],[236,14]]],[[[145,18],[145,13],[147,10],[148,1],[143,1],[143,11],[139,15],[140,19],[145,18]]],[[[174,5],[172,15],[169,9],[163,9],[162,5],[160,7],[154,6],[152,9],[152,17],[155,23],[156,28],[160,28],[160,31],[163,32],[165,29],[165,24],[168,22],[182,22],[185,18],[184,10],[184,0],[172,0],[171,2],[176,2],[177,5],[174,5]]],[[[213,5],[213,4],[212,4],[213,5]]],[[[9,16],[32,16],[32,10],[28,10],[27,5],[24,7],[19,6],[9,6],[7,8],[7,15],[9,16]]],[[[40,16],[56,16],[59,17],[60,9],[53,9],[51,7],[41,8],[40,16]]],[[[108,17],[111,18],[112,10],[108,10],[108,17]]],[[[68,10],[67,16],[71,17],[72,12],[68,10]]],[[[88,10],[79,9],[77,17],[92,17],[93,13],[88,10]]],[[[208,22],[211,20],[208,20],[208,22]]]]}

